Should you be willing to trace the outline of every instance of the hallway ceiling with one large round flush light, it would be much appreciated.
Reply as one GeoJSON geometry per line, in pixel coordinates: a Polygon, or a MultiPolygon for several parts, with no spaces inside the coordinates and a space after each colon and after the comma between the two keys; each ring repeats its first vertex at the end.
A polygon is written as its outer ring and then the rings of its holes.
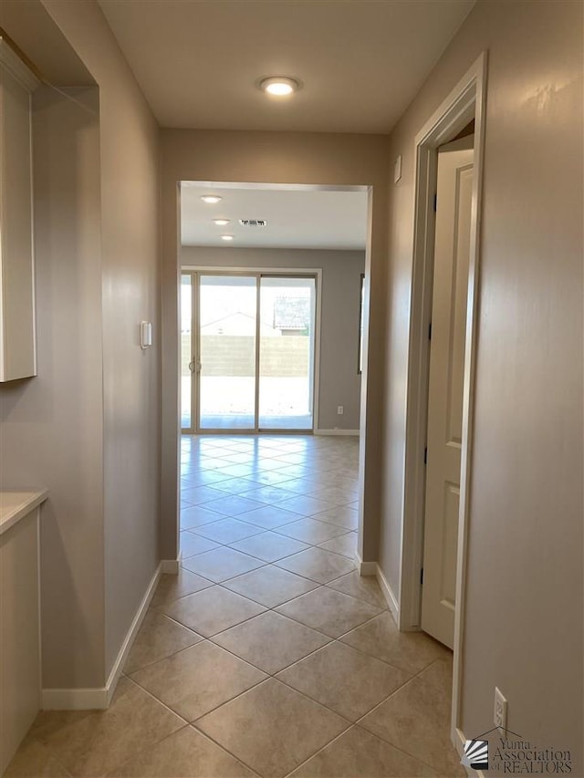
{"type": "Polygon", "coordinates": [[[99,0],[162,127],[387,133],[474,0],[99,0]],[[304,82],[269,99],[258,78],[304,82]]]}

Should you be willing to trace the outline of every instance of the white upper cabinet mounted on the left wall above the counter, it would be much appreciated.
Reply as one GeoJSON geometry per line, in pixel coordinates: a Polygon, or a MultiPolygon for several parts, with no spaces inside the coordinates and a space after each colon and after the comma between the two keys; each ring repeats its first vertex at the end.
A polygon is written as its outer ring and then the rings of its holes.
{"type": "Polygon", "coordinates": [[[36,375],[31,95],[37,86],[0,37],[0,381],[36,375]]]}

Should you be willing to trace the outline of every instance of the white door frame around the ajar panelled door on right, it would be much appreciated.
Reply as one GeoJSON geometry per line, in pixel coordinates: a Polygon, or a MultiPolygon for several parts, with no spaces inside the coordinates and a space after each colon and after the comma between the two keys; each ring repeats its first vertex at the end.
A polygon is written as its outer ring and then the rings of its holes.
{"type": "Polygon", "coordinates": [[[474,363],[478,318],[481,192],[485,152],[486,52],[478,57],[448,97],[424,123],[414,140],[415,186],[413,223],[412,293],[408,375],[406,385],[406,429],[400,565],[401,630],[420,629],[424,529],[424,496],[430,327],[433,292],[433,253],[438,146],[443,145],[474,119],[474,182],[471,206],[471,240],[466,336],[464,346],[463,439],[461,451],[460,509],[454,612],[454,675],[451,738],[462,752],[464,735],[459,728],[464,650],[464,595],[466,545],[470,511],[473,449],[474,363]]]}

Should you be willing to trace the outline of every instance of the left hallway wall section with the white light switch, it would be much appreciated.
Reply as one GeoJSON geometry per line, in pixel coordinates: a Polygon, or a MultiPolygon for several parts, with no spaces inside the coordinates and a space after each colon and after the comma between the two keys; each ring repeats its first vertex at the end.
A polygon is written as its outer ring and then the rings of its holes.
{"type": "Polygon", "coordinates": [[[159,559],[158,127],[97,3],[44,5],[99,85],[108,673],[159,559]]]}

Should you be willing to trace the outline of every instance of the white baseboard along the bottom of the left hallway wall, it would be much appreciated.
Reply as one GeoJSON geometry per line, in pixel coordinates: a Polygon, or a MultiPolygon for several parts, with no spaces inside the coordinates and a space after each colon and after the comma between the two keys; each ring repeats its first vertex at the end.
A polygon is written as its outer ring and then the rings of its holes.
{"type": "Polygon", "coordinates": [[[128,634],[121,644],[118,657],[113,664],[106,685],[94,689],[43,689],[43,711],[105,711],[110,707],[111,698],[120,680],[126,659],[128,659],[130,654],[132,643],[138,634],[138,630],[141,628],[141,623],[146,616],[151,598],[160,581],[164,562],[174,562],[177,565],[176,572],[178,572],[178,560],[163,560],[156,568],[156,572],[152,576],[151,582],[142,597],[136,615],[132,619],[128,634]]]}

